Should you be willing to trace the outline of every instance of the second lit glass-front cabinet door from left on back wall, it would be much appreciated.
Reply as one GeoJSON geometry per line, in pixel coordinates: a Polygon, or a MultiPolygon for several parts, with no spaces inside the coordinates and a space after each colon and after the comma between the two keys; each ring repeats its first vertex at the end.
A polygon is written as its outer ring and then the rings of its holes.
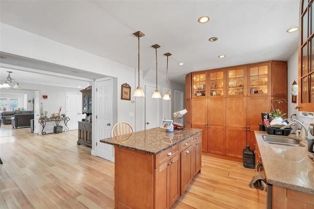
{"type": "Polygon", "coordinates": [[[210,70],[208,77],[209,97],[224,96],[225,70],[210,70]]]}

